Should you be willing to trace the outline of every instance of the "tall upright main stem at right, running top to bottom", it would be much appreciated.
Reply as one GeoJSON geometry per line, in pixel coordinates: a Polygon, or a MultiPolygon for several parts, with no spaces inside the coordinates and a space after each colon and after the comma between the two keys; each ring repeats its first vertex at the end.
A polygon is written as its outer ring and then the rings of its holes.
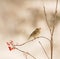
{"type": "MultiPolygon", "coordinates": [[[[56,15],[57,15],[57,7],[58,7],[58,0],[56,0],[56,9],[55,9],[55,15],[54,15],[54,22],[56,22],[56,15]]],[[[55,23],[53,25],[53,30],[51,33],[51,59],[53,59],[53,35],[55,30],[55,23]]]]}

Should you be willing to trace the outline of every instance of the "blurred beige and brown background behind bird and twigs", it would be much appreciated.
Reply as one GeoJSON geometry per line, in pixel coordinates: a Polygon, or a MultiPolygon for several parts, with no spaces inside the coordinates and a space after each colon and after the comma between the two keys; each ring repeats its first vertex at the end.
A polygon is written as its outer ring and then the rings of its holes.
{"type": "MultiPolygon", "coordinates": [[[[56,0],[43,1],[50,23],[50,19],[53,18],[55,12],[56,0]]],[[[54,32],[53,59],[60,59],[60,0],[57,10],[58,23],[54,32]]],[[[25,59],[21,52],[17,50],[9,51],[6,42],[13,40],[15,43],[24,43],[37,27],[41,27],[41,36],[50,38],[42,0],[0,0],[0,59],[25,59]]],[[[38,41],[41,41],[50,57],[50,45],[46,39],[39,38],[18,48],[30,52],[37,59],[47,59],[38,41]]],[[[28,56],[28,59],[33,58],[28,56]]]]}

